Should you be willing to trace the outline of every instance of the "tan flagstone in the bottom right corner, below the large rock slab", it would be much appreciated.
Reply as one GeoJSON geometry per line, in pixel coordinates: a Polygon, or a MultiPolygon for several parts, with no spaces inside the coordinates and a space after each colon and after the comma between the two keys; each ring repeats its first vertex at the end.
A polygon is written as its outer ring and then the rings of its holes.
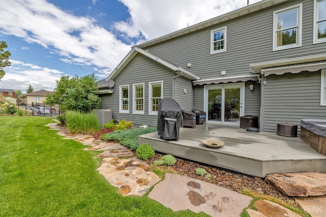
{"type": "Polygon", "coordinates": [[[326,217],[326,196],[294,199],[311,217],[326,217]]]}

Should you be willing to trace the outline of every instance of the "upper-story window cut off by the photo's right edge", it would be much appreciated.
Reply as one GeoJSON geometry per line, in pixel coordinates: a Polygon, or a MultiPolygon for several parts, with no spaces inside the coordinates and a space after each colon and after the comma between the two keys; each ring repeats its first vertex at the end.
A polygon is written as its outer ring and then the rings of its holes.
{"type": "Polygon", "coordinates": [[[314,44],[326,42],[326,0],[314,1],[314,44]]]}

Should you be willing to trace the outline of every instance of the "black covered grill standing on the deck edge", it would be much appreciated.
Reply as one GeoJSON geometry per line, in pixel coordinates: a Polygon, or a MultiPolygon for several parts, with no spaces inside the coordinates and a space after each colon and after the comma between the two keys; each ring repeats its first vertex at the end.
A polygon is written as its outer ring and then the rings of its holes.
{"type": "Polygon", "coordinates": [[[181,117],[181,107],[174,99],[162,99],[158,104],[158,135],[162,139],[179,139],[181,117]]]}

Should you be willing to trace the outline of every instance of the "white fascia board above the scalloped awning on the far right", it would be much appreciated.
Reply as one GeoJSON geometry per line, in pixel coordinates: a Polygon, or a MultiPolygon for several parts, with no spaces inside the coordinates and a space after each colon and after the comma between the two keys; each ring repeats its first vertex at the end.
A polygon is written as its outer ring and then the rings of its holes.
{"type": "Polygon", "coordinates": [[[313,54],[308,56],[298,56],[285,59],[276,59],[260,63],[250,64],[250,71],[253,74],[261,73],[262,68],[279,67],[286,65],[304,64],[326,60],[326,53],[313,54]]]}

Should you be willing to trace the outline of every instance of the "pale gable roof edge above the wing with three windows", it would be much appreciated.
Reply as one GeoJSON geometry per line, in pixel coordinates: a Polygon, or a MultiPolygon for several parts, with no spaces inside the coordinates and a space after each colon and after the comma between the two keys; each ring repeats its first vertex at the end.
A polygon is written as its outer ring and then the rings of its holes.
{"type": "Polygon", "coordinates": [[[128,63],[133,59],[133,57],[135,57],[135,55],[137,55],[138,53],[141,53],[155,61],[157,61],[158,63],[160,63],[161,65],[164,65],[168,68],[170,68],[171,70],[175,71],[176,74],[181,74],[181,76],[188,78],[190,80],[199,80],[200,77],[198,77],[197,75],[188,72],[185,69],[182,69],[181,67],[175,66],[171,63],[169,63],[168,61],[158,58],[157,56],[139,48],[139,47],[132,47],[132,49],[130,50],[130,52],[124,57],[124,59],[120,62],[120,64],[115,68],[115,70],[113,70],[113,72],[107,77],[106,80],[109,79],[115,79],[117,77],[117,75],[128,65],[128,63]]]}

